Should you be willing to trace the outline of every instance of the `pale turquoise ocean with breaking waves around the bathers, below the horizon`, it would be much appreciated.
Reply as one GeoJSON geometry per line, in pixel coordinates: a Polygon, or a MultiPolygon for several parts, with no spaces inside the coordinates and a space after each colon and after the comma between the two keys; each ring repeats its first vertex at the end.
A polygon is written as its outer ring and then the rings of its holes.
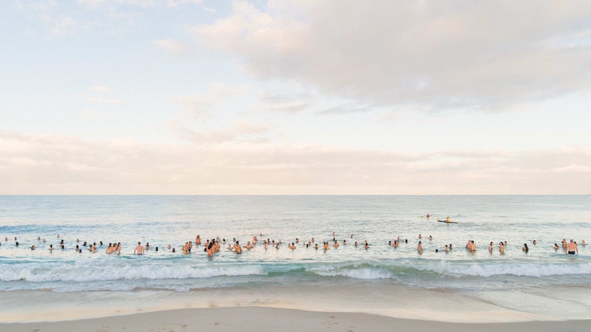
{"type": "Polygon", "coordinates": [[[379,308],[420,294],[435,309],[469,298],[538,318],[581,319],[591,318],[591,246],[582,240],[591,240],[591,196],[0,196],[0,296],[224,298],[215,305],[232,296],[253,305],[313,298],[308,305],[320,309],[334,309],[337,298],[350,310],[388,314],[379,308]],[[447,216],[457,223],[437,222],[447,216]],[[203,246],[183,255],[197,235],[226,242],[213,257],[203,246]],[[254,236],[258,244],[241,255],[226,249],[254,236]],[[398,248],[388,245],[398,237],[398,248]],[[265,249],[267,239],[282,244],[265,249]],[[575,240],[579,255],[555,250],[562,239],[575,240]],[[468,240],[475,253],[464,248],[468,240]],[[102,246],[91,253],[84,242],[102,246]],[[121,255],[105,253],[109,242],[121,242],[121,255]],[[137,242],[149,242],[146,255],[133,255],[137,242]]]}

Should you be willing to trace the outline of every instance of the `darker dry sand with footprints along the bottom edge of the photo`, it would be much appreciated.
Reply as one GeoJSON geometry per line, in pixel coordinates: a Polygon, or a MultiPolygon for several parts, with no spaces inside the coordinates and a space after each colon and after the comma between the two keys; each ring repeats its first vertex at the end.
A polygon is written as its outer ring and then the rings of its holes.
{"type": "Polygon", "coordinates": [[[176,309],[60,322],[0,324],[2,331],[588,331],[590,320],[453,323],[272,307],[176,309]]]}

